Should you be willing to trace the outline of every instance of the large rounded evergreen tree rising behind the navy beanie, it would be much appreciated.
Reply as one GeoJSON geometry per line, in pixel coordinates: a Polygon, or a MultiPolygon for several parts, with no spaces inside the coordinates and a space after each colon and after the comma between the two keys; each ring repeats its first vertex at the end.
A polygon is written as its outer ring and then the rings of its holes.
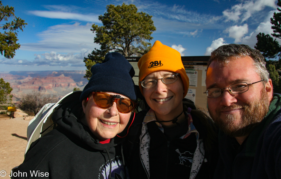
{"type": "Polygon", "coordinates": [[[151,48],[151,34],[156,31],[152,16],[137,12],[135,5],[106,6],[107,12],[98,17],[103,26],[92,25],[91,31],[96,33],[94,42],[101,45],[100,49],[94,49],[88,57],[84,58],[87,67],[85,78],[92,76],[91,67],[102,62],[108,52],[120,52],[122,55],[141,56],[151,48]]]}

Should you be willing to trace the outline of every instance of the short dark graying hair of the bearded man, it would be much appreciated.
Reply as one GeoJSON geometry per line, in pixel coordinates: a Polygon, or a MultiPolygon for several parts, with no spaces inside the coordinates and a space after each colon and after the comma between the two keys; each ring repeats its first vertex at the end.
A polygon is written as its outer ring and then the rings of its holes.
{"type": "Polygon", "coordinates": [[[248,45],[244,44],[228,44],[222,45],[219,48],[215,49],[210,56],[207,69],[212,61],[217,60],[222,64],[229,63],[229,60],[232,58],[241,58],[241,57],[251,57],[254,60],[254,70],[261,79],[263,79],[263,83],[268,82],[269,73],[265,66],[264,57],[261,52],[256,49],[250,48],[248,45]]]}

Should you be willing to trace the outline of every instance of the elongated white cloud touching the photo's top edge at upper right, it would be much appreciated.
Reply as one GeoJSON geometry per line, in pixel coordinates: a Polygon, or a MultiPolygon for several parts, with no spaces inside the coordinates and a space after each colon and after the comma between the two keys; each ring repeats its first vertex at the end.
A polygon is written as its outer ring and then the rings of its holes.
{"type": "Polygon", "coordinates": [[[277,8],[276,0],[256,0],[256,1],[245,1],[240,4],[236,4],[222,12],[223,16],[226,18],[225,21],[238,21],[241,22],[248,20],[253,14],[263,10],[265,7],[277,8]]]}

